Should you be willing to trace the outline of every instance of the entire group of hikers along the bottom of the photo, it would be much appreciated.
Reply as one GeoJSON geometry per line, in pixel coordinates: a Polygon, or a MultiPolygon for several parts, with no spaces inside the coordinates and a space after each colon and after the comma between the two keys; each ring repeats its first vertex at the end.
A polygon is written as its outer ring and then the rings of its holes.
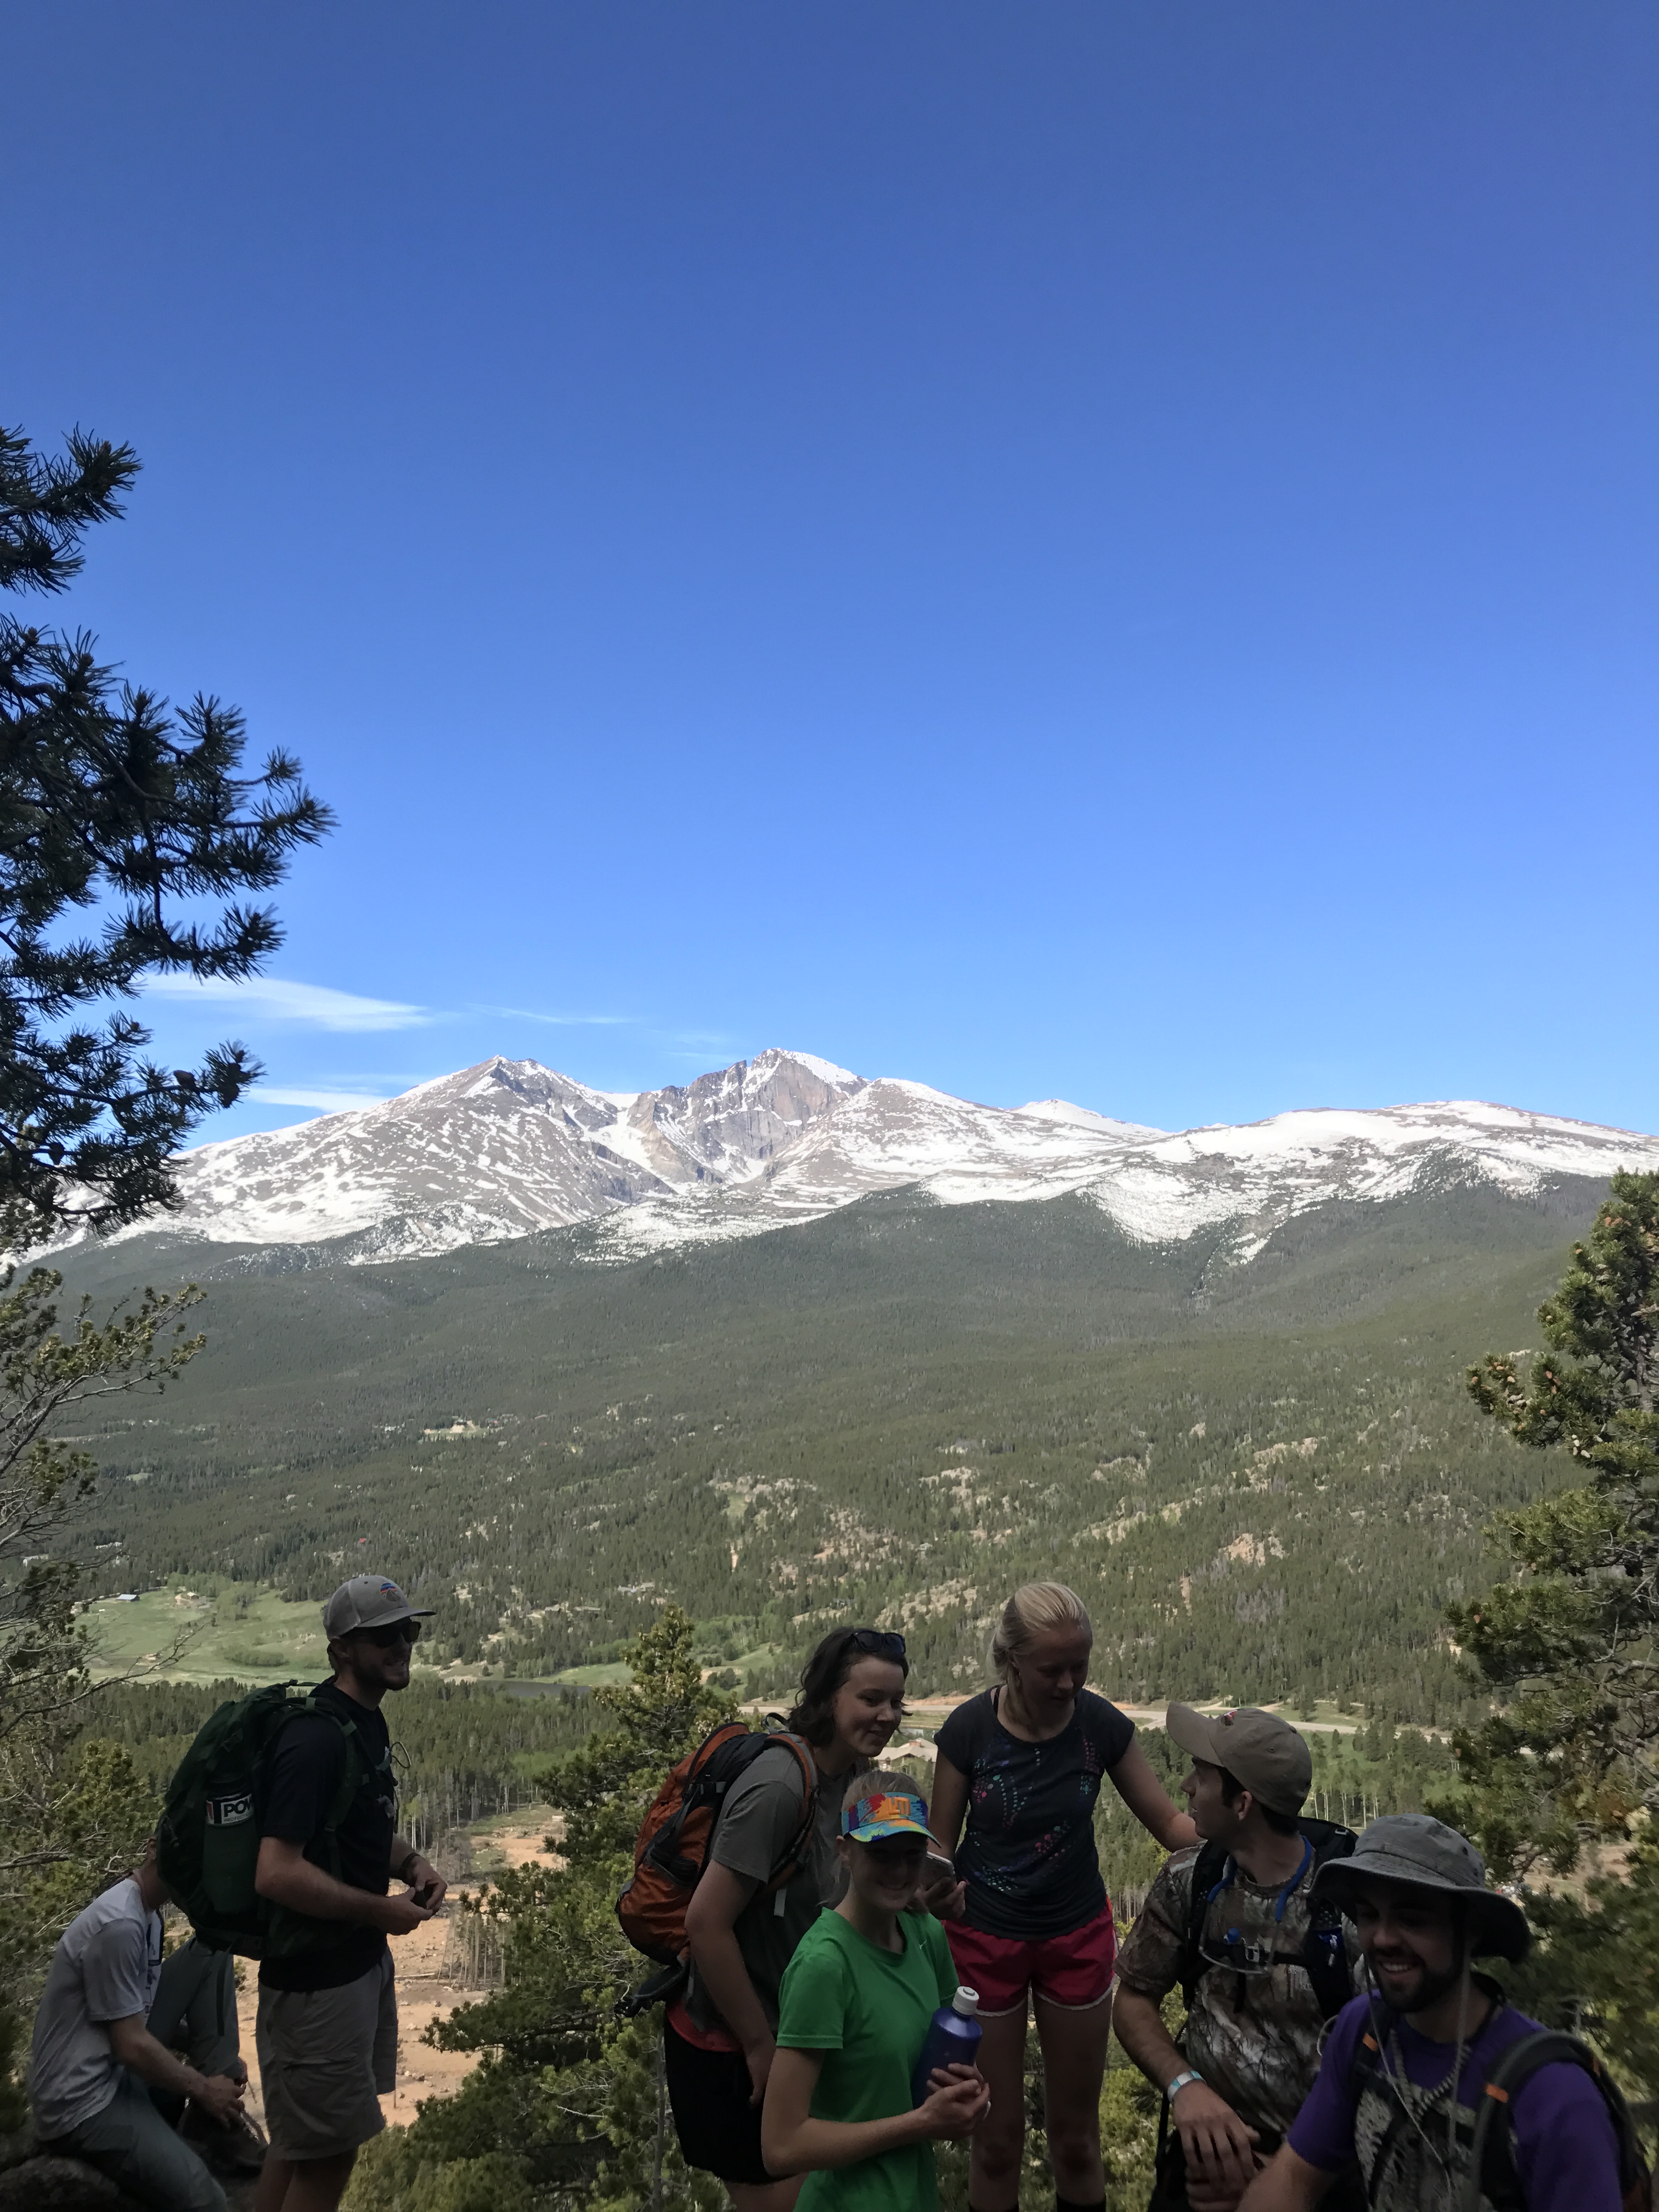
{"type": "MultiPolygon", "coordinates": [[[[418,1621],[380,1577],[334,1593],[334,1679],[285,1723],[257,1794],[261,1896],[332,1938],[261,1964],[259,2212],[332,2212],[383,2126],[385,1938],[445,1893],[396,1834],[380,1717],[418,1621]]],[[[1091,1648],[1073,1590],[1015,1590],[995,1683],[938,1732],[929,1805],[880,1765],[905,1717],[905,1639],[838,1628],[818,1644],[783,1730],[745,1739],[701,1860],[672,1863],[686,1898],[664,2075],[686,2166],[734,2212],[931,2212],[933,2143],[967,2141],[971,2212],[1015,2212],[1035,2022],[1055,2212],[1104,2208],[1113,2026],[1159,2097],[1150,2212],[1650,2203],[1588,2048],[1475,1971],[1520,1960],[1528,1927],[1464,1836],[1422,1814],[1358,1838],[1303,1816],[1307,1743],[1259,1710],[1168,1708],[1190,1759],[1177,1809],[1135,1723],[1086,1686],[1091,1648]],[[1121,1951],[1095,1851],[1104,1781],[1170,1854],[1121,1951]],[[918,2079],[947,2006],[978,2020],[973,2059],[918,2079]]],[[[161,1898],[148,1860],[62,1938],[35,2026],[35,2128],[144,2203],[219,2212],[199,2148],[223,2163],[252,2139],[230,1962],[192,1942],[164,1964],[161,1898]],[[173,2124],[186,2099],[195,2143],[173,2124]]]]}

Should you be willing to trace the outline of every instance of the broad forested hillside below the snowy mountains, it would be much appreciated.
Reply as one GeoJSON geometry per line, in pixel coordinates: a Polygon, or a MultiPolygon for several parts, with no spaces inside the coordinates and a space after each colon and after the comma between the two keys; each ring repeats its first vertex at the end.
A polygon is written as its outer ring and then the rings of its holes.
{"type": "Polygon", "coordinates": [[[104,1590],[314,1599],[374,1564],[440,1657],[507,1674],[611,1657],[672,1597],[763,1692],[845,1617],[971,1688],[1004,1590],[1057,1573],[1121,1697],[1447,1719],[1440,1608],[1546,1473],[1462,1369],[1533,1340],[1599,1194],[1329,1206],[1243,1267],[1079,1199],[914,1194],[633,1265],[584,1230],[383,1267],[122,1245],[73,1287],[195,1274],[208,1352],[86,1438],[88,1544],[104,1590]]]}

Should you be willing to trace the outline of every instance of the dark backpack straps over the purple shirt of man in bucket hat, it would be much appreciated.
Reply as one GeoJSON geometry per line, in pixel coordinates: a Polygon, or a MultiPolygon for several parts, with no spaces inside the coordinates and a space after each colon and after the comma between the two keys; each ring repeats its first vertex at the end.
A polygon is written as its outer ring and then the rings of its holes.
{"type": "MultiPolygon", "coordinates": [[[[1473,1984],[1502,2006],[1504,1997],[1495,1982],[1478,1973],[1473,1984]]],[[[1385,2064],[1396,2022],[1398,2015],[1387,2006],[1371,2004],[1371,2020],[1354,2044],[1349,2066],[1354,2139],[1365,2172],[1365,2194],[1371,2205],[1383,2208],[1416,2205],[1422,2197],[1420,2141],[1427,2137],[1436,2150],[1444,2141],[1451,2093],[1449,2081],[1436,2090],[1420,2090],[1385,2064]]],[[[1451,2126],[1453,2172],[1460,2181],[1458,2212],[1526,2212],[1515,2161],[1515,2097],[1540,2066],[1557,2064],[1582,2066],[1601,2090],[1619,2148],[1624,2212],[1652,2212],[1652,2174],[1617,2081],[1588,2044],[1553,2028],[1535,2028],[1509,2044],[1493,2062],[1475,2106],[1458,2106],[1451,2126]]]]}

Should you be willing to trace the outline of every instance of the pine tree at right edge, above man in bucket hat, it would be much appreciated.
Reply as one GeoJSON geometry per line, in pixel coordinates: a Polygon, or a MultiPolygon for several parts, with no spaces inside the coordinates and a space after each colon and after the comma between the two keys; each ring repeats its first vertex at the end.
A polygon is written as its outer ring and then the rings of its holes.
{"type": "Polygon", "coordinates": [[[1540,1307],[1548,1352],[1469,1369],[1522,1444],[1586,1480],[1500,1531],[1515,1575],[1449,1610],[1504,1699],[1455,1739],[1464,1807],[1502,1874],[1566,1874],[1593,1838],[1659,1812],[1659,1175],[1615,1175],[1588,1241],[1540,1307]]]}

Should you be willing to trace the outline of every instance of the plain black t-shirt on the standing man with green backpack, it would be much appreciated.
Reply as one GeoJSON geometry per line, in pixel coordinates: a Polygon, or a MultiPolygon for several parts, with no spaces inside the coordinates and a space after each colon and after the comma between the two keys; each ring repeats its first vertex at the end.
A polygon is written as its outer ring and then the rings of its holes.
{"type": "MultiPolygon", "coordinates": [[[[279,1843],[299,1843],[305,1858],[323,1874],[338,1874],[352,1889],[383,1898],[392,1887],[392,1838],[398,1827],[396,1783],[392,1781],[392,1736],[383,1714],[358,1705],[345,1690],[325,1681],[312,1692],[319,1705],[356,1728],[358,1785],[356,1796],[334,1829],[338,1867],[330,1860],[323,1827],[334,1809],[334,1794],[345,1776],[345,1736],[325,1712],[296,1712],[276,1739],[265,1770],[259,1834],[279,1843]]],[[[341,1989],[378,1966],[385,1951],[380,1929],[352,1920],[338,1922],[338,1936],[292,1958],[263,1960],[259,1980],[265,1989],[341,1989]]]]}

